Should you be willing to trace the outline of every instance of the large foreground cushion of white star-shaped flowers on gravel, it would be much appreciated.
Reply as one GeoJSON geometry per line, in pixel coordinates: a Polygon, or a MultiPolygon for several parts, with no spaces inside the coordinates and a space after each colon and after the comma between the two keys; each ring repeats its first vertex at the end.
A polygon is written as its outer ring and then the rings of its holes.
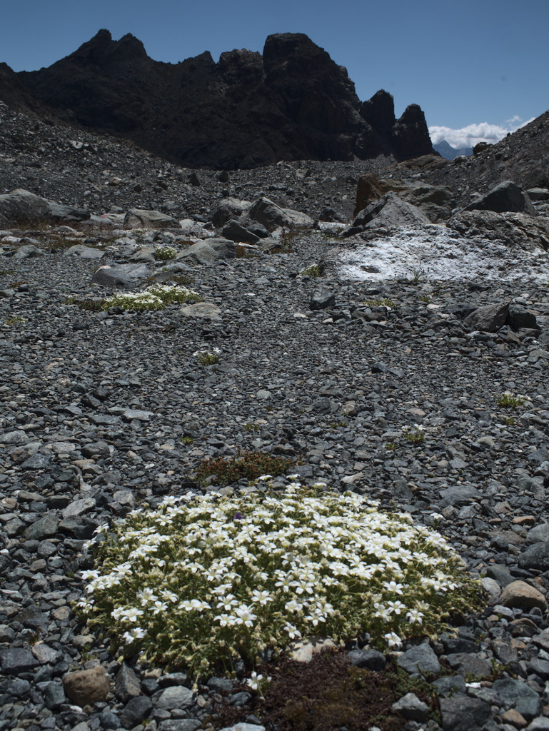
{"type": "Polygon", "coordinates": [[[83,574],[81,612],[144,659],[197,673],[311,634],[398,647],[469,607],[476,587],[440,534],[355,493],[267,482],[134,510],[83,574]]]}

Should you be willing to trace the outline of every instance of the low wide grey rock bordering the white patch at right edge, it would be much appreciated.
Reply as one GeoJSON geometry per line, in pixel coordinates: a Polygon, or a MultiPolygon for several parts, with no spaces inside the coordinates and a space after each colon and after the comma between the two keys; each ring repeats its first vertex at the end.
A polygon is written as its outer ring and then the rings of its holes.
{"type": "Polygon", "coordinates": [[[466,238],[504,241],[507,246],[518,246],[526,251],[549,249],[549,224],[526,213],[462,211],[452,216],[447,227],[466,238]]]}

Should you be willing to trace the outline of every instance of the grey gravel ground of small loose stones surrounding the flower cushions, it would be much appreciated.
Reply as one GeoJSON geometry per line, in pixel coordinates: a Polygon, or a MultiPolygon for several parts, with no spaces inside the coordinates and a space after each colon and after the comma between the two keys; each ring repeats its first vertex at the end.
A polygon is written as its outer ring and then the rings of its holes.
{"type": "MultiPolygon", "coordinates": [[[[85,243],[103,243],[101,263],[117,264],[132,235],[85,243]]],[[[295,457],[303,481],[351,488],[426,524],[442,515],[439,529],[491,592],[491,606],[458,628],[458,640],[431,643],[456,673],[484,679],[444,700],[442,727],[461,728],[456,713],[480,714],[493,729],[549,727],[548,292],[347,281],[322,266],[333,246],[342,245],[316,232],[286,253],[189,267],[189,286],[219,307],[213,320],[181,306],[82,311],[67,298],[107,294],[91,284],[96,261],[63,250],[1,260],[0,729],[141,729],[144,719],[161,731],[216,729],[205,719],[218,681],[163,708],[163,689],[184,688],[185,678],[121,670],[71,602],[83,591],[83,543],[96,526],[186,491],[202,460],[239,449],[295,457]],[[321,278],[303,274],[319,262],[321,278]],[[335,303],[314,310],[319,287],[335,303]],[[392,303],[378,305],[382,298],[392,303]],[[510,300],[536,315],[541,335],[477,332],[458,317],[510,300]],[[214,346],[219,362],[197,363],[194,352],[214,346]],[[502,408],[507,390],[528,400],[502,408]],[[414,425],[424,430],[419,444],[403,431],[414,425]],[[501,604],[515,580],[540,592],[533,608],[501,604]],[[515,685],[494,689],[491,673],[485,679],[492,660],[515,685]],[[61,679],[97,664],[118,678],[115,692],[78,708],[61,679]]],[[[4,251],[14,251],[9,240],[4,251]]]]}

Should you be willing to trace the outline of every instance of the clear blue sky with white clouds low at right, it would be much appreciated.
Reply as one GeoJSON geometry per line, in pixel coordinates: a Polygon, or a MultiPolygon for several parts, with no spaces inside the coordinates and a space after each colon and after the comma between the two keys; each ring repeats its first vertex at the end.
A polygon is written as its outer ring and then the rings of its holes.
{"type": "Polygon", "coordinates": [[[132,33],[157,61],[262,50],[306,33],[347,67],[360,99],[419,104],[433,140],[493,141],[549,108],[549,0],[26,0],[3,3],[0,61],[49,66],[96,31],[132,33]]]}

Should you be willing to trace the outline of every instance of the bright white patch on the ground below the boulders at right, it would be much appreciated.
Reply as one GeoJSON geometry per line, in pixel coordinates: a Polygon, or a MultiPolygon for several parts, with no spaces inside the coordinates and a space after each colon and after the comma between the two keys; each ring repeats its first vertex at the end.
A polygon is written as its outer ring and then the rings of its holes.
{"type": "Polygon", "coordinates": [[[482,239],[442,226],[402,227],[393,235],[338,252],[344,279],[549,281],[549,255],[482,239]]]}

